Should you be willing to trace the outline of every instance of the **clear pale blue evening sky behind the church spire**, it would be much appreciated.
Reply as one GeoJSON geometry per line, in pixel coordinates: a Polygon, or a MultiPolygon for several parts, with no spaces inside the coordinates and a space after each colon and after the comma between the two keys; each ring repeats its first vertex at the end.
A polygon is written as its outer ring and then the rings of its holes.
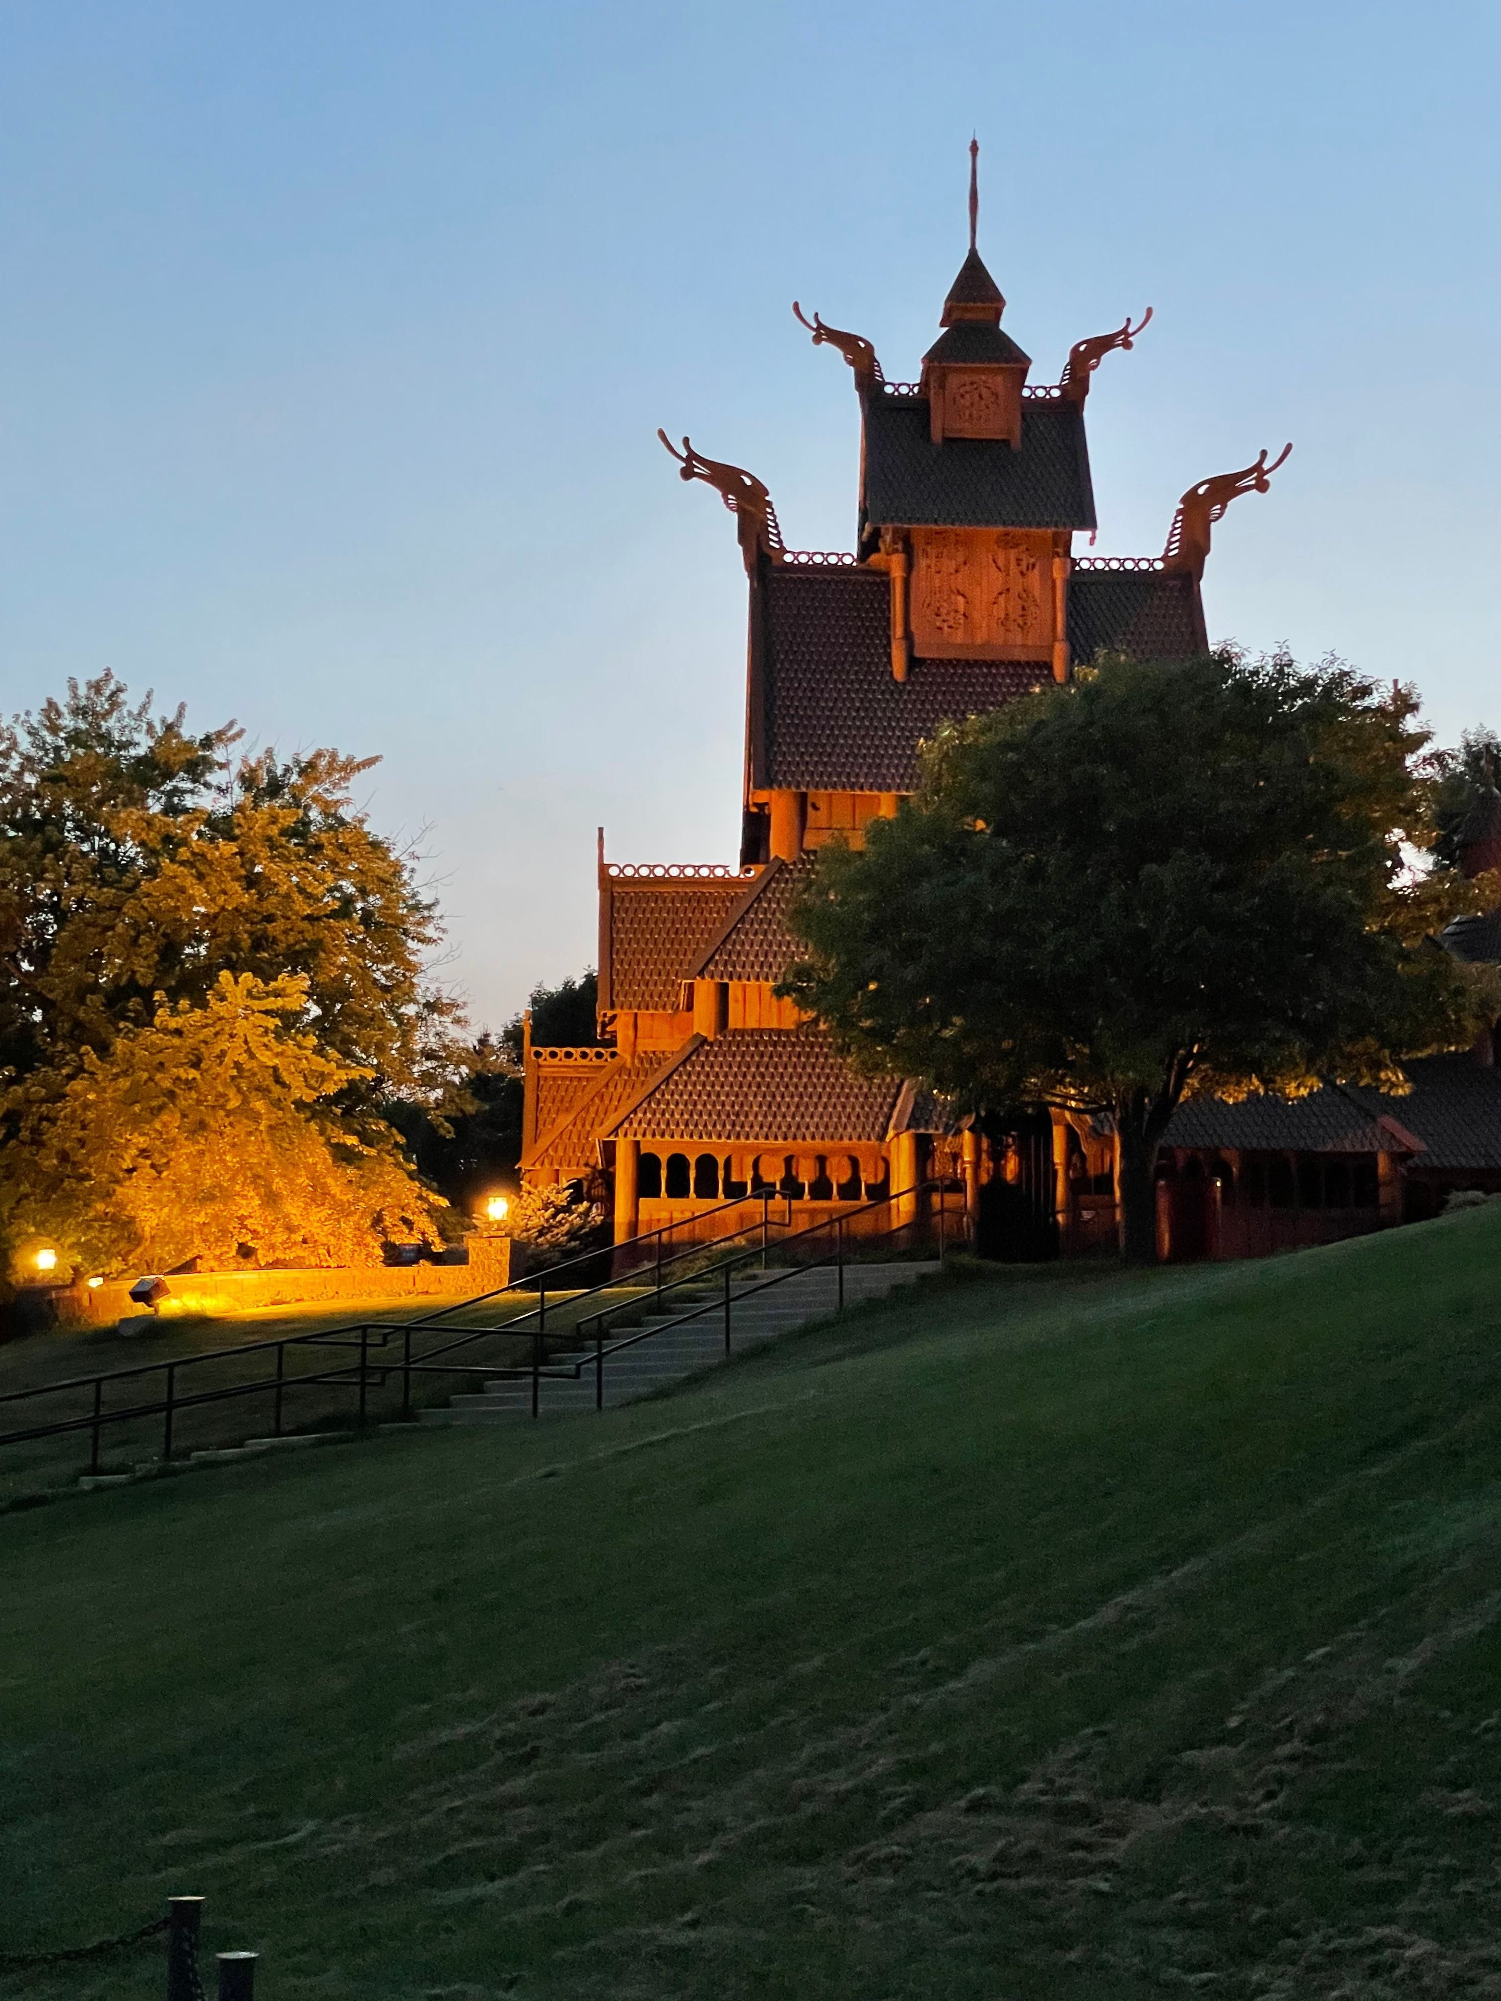
{"type": "Polygon", "coordinates": [[[382,764],[476,1023],[620,860],[726,860],[744,578],[654,430],[853,542],[849,374],[965,250],[1007,328],[1157,308],[1097,552],[1237,502],[1209,628],[1501,724],[1495,6],[0,0],[0,702],[110,666],[382,764]]]}

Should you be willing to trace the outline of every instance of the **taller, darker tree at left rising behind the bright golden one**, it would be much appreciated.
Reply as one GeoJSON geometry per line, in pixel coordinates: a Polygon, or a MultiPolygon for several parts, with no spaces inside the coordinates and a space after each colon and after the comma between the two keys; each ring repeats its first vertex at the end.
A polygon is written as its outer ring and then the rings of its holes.
{"type": "Polygon", "coordinates": [[[358,1073],[344,1105],[436,1097],[456,1009],[422,976],[440,936],[410,854],[352,802],[372,758],[234,762],[102,674],[0,726],[0,1061],[16,1077],[102,1055],[220,970],[300,974],[306,1027],[358,1073]]]}

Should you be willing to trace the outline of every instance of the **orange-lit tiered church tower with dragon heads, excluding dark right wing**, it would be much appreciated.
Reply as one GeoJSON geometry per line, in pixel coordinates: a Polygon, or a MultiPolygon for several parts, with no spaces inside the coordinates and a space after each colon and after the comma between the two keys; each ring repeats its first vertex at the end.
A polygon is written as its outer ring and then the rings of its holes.
{"type": "MultiPolygon", "coordinates": [[[[963,1179],[971,1203],[1009,1173],[913,1083],[851,1073],[777,998],[797,954],[791,902],[821,846],[859,846],[897,812],[945,718],[1067,682],[1101,652],[1203,652],[1211,524],[1281,464],[1263,452],[1189,488],[1161,556],[1077,554],[1095,532],[1091,380],[1151,310],[1077,342],[1057,382],[1029,382],[979,252],[977,154],[969,252],[919,380],[889,382],[871,340],[793,306],[815,346],[845,358],[861,404],[853,550],[789,548],[761,478],[658,434],[734,516],[746,568],[744,830],[738,866],[606,862],[600,836],[602,1047],[526,1055],[522,1173],[608,1191],[616,1241],[710,1209],[718,1231],[716,1205],[767,1189],[815,1223],[883,1193],[897,1207],[931,1171],[963,1179]]],[[[1099,1137],[1055,1125],[1057,1161],[1109,1179],[1099,1137]]],[[[1057,1177],[1063,1213],[1071,1183],[1057,1177]]]]}

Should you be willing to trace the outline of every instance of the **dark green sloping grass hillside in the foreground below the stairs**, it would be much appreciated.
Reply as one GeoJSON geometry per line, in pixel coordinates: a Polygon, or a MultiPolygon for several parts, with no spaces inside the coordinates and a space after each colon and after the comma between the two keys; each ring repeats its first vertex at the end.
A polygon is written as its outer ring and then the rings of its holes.
{"type": "Polygon", "coordinates": [[[266,2001],[1501,1993],[1499,1273],[1495,1207],[997,1273],[0,1517],[0,1951],[194,1891],[266,2001]]]}

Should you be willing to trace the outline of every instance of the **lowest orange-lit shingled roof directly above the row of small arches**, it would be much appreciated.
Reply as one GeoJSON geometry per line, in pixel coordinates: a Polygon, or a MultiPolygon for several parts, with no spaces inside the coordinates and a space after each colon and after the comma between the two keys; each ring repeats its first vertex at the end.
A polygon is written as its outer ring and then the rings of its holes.
{"type": "Polygon", "coordinates": [[[612,1131],[769,1147],[881,1141],[901,1091],[857,1077],[819,1029],[736,1029],[688,1043],[612,1131]]]}

